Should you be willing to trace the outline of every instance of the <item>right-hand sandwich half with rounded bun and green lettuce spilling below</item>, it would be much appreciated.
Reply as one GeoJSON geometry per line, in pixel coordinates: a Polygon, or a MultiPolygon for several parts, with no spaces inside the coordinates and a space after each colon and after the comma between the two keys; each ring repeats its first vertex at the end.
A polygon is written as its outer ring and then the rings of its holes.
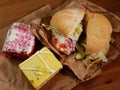
{"type": "Polygon", "coordinates": [[[112,26],[102,14],[87,12],[85,15],[85,31],[77,42],[76,59],[83,60],[91,67],[96,62],[107,62],[107,51],[110,47],[112,26]]]}

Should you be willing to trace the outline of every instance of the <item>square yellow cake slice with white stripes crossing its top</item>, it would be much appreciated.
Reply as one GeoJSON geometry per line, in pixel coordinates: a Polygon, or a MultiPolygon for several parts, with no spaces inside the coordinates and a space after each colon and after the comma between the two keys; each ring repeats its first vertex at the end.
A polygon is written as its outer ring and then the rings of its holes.
{"type": "Polygon", "coordinates": [[[39,89],[62,69],[62,64],[47,47],[44,47],[22,62],[19,68],[33,87],[39,89]]]}

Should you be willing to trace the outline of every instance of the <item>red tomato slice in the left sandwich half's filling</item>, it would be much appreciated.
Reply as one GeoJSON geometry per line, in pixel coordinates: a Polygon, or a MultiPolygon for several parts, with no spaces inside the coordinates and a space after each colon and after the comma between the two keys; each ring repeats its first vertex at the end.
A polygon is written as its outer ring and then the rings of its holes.
{"type": "Polygon", "coordinates": [[[64,43],[58,44],[58,40],[55,37],[52,37],[53,46],[61,53],[67,53],[67,46],[64,43]]]}

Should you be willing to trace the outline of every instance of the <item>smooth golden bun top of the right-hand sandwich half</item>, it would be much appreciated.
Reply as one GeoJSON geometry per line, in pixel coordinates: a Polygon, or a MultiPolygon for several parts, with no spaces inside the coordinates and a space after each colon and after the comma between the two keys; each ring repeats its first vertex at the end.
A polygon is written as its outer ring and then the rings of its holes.
{"type": "Polygon", "coordinates": [[[87,13],[87,52],[99,52],[109,46],[112,26],[109,20],[99,13],[87,13]]]}

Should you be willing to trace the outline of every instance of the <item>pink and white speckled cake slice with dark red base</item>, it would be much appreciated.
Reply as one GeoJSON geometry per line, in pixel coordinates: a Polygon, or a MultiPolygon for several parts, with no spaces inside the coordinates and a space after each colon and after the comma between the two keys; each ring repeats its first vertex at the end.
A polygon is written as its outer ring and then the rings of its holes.
{"type": "Polygon", "coordinates": [[[2,49],[5,56],[28,58],[33,53],[35,36],[30,28],[30,25],[24,23],[13,23],[2,49]]]}

